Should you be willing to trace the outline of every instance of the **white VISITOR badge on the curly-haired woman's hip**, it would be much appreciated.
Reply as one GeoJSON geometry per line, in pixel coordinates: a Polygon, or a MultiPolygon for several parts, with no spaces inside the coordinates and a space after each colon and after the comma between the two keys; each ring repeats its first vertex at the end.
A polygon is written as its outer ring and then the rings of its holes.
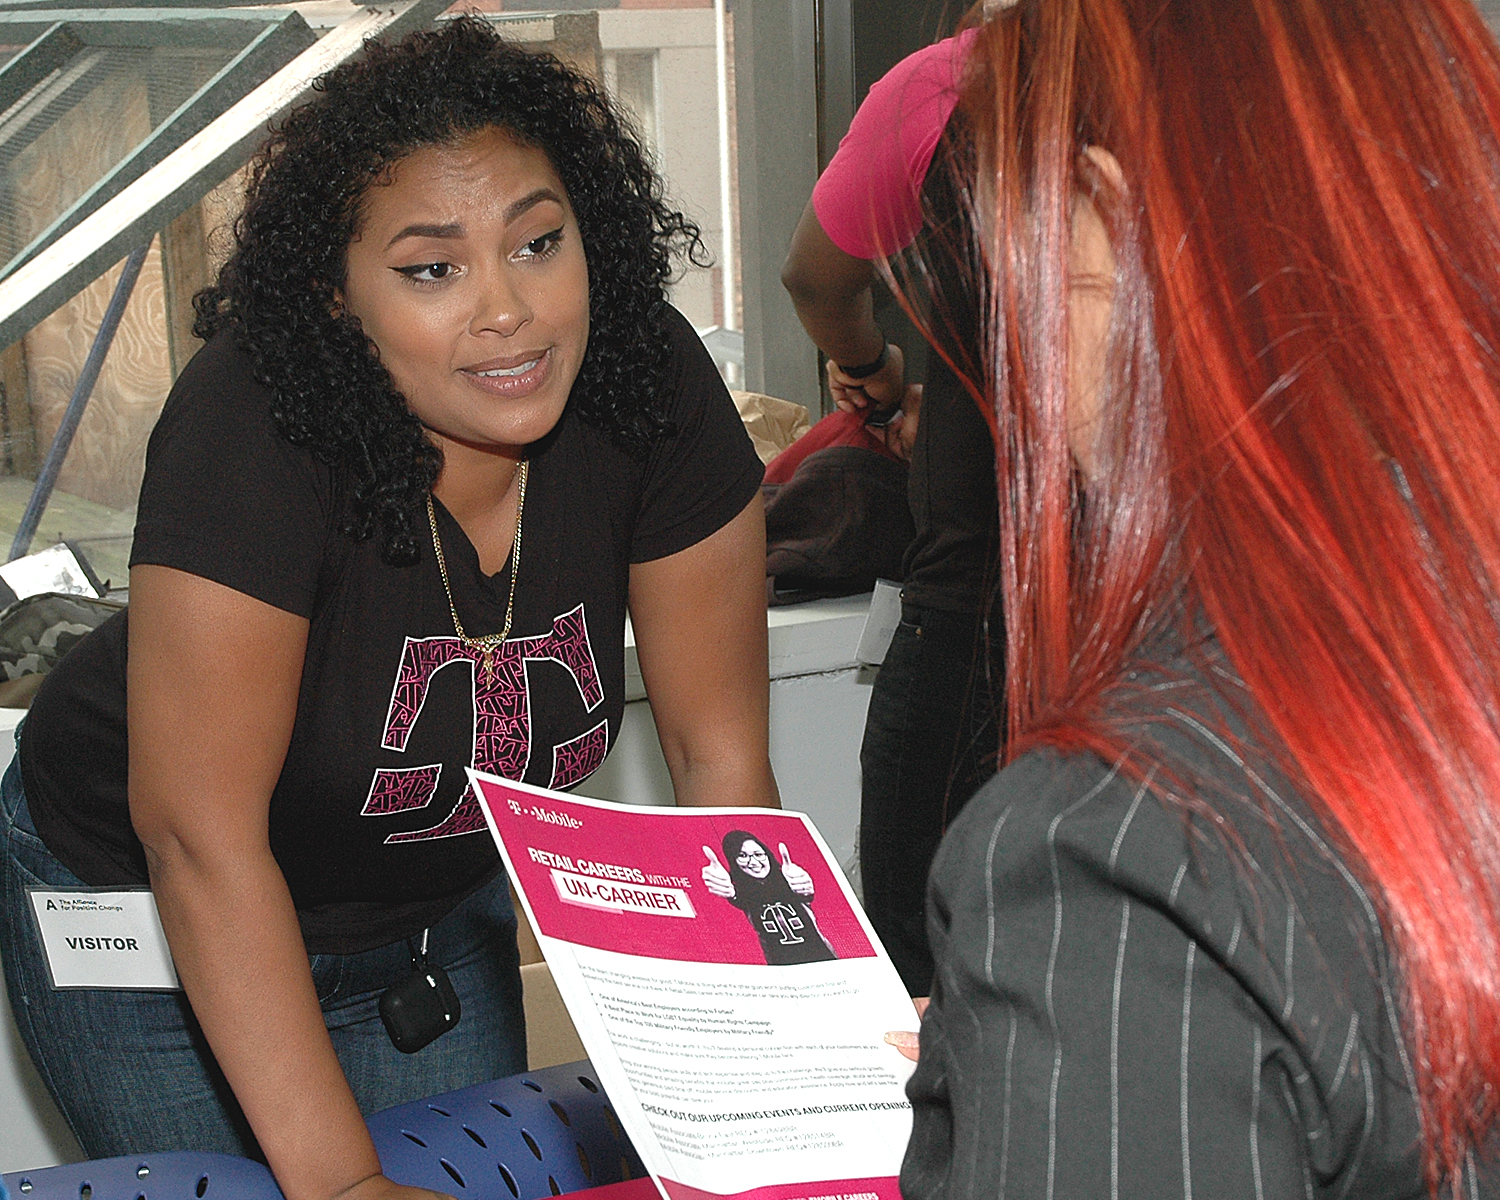
{"type": "Polygon", "coordinates": [[[156,897],[135,891],[28,890],[52,987],[176,990],[156,897]]]}

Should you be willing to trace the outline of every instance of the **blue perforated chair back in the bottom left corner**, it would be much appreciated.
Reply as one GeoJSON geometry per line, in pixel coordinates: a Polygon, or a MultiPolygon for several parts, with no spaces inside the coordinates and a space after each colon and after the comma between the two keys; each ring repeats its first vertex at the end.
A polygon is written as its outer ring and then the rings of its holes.
{"type": "Polygon", "coordinates": [[[260,1162],[194,1150],[96,1158],[0,1179],[10,1200],[282,1200],[260,1162]]]}

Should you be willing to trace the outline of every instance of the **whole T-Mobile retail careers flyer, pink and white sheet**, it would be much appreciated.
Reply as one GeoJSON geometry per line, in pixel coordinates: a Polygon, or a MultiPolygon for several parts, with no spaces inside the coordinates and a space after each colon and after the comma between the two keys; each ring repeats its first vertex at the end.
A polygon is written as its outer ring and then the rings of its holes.
{"type": "Polygon", "coordinates": [[[610,1101],[668,1200],[900,1200],[912,1004],[813,824],[470,772],[610,1101]]]}

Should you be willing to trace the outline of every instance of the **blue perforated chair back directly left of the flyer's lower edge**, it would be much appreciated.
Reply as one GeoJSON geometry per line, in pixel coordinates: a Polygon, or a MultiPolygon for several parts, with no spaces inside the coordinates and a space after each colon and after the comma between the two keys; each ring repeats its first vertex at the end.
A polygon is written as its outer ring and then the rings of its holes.
{"type": "Polygon", "coordinates": [[[543,1200],[646,1173],[586,1059],[400,1104],[369,1126],[390,1179],[459,1200],[543,1200]]]}

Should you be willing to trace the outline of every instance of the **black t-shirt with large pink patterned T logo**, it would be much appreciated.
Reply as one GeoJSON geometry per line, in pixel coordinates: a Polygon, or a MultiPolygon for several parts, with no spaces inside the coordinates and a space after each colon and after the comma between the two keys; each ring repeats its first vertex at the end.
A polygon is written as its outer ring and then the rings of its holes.
{"type": "MultiPolygon", "coordinates": [[[[333,474],[278,435],[270,393],[228,333],[172,388],[147,452],[132,566],[176,567],[310,622],[270,804],[309,951],[408,936],[494,876],[465,766],[568,788],[618,736],[630,564],[722,528],[762,476],[692,327],[674,312],[666,334],[674,429],[648,456],[572,406],[531,448],[514,621],[492,675],[459,645],[430,552],[392,567],[375,540],[338,531],[333,474]]],[[[465,630],[501,628],[508,564],[484,576],[436,512],[465,630]]],[[[147,882],[126,806],[124,651],[122,614],[48,676],[20,747],[44,842],[96,886],[147,882]]]]}

